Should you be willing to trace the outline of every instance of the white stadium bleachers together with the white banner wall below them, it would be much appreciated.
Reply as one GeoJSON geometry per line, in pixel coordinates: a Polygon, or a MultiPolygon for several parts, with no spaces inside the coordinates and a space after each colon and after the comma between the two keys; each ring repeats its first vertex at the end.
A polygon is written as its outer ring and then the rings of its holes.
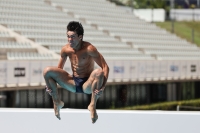
{"type": "MultiPolygon", "coordinates": [[[[70,21],[82,23],[83,40],[104,56],[110,88],[200,79],[197,45],[109,1],[0,0],[0,89],[41,89],[46,84],[42,71],[57,65],[70,21]],[[13,77],[15,73],[21,77],[13,77]]],[[[63,69],[72,73],[69,60],[63,69]]]]}

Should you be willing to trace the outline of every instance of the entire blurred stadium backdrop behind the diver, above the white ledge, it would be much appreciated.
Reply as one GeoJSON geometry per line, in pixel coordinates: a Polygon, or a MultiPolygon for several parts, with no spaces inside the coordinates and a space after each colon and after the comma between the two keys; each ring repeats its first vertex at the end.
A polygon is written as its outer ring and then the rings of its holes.
{"type": "MultiPolygon", "coordinates": [[[[200,110],[200,0],[0,0],[0,107],[53,107],[42,71],[57,66],[70,21],[110,67],[98,109],[200,110]]],[[[64,108],[91,97],[59,95],[64,108]]]]}

